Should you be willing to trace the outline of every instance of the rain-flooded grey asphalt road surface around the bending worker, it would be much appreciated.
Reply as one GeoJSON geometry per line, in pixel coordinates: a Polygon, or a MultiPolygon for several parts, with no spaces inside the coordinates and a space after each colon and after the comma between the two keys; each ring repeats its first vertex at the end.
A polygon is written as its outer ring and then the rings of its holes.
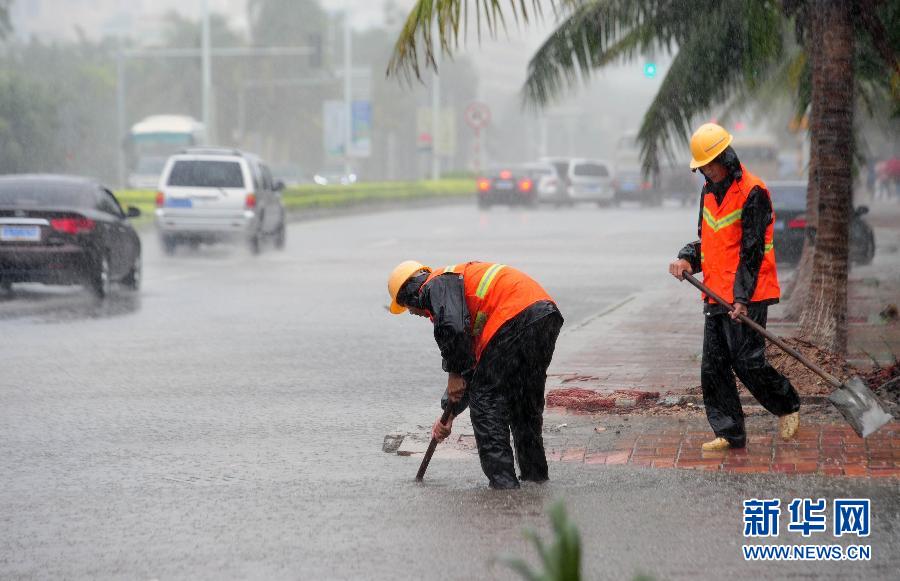
{"type": "Polygon", "coordinates": [[[474,458],[415,485],[418,459],[381,452],[433,421],[444,381],[429,325],[384,310],[397,262],[515,265],[573,325],[670,284],[695,224],[675,207],[418,209],[295,224],[260,257],[166,258],[150,231],[139,294],[17,286],[0,298],[0,578],[509,579],[502,558],[534,559],[521,531],[546,531],[557,498],[586,578],[896,578],[896,481],[554,463],[506,493],[474,458]],[[873,560],[745,563],[741,501],[802,496],[872,498],[873,560]]]}

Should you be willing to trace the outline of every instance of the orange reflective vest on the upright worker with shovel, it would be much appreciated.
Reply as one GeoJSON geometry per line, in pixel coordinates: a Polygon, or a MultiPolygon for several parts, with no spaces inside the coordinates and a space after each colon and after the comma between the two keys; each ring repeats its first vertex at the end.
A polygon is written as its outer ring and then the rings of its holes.
{"type": "MultiPolygon", "coordinates": [[[[703,220],[700,226],[700,263],[703,266],[703,282],[711,290],[734,302],[734,278],[741,260],[741,214],[750,191],[759,186],[768,194],[766,184],[747,171],[743,165],[743,179],[734,180],[722,199],[722,205],[716,202],[716,196],[708,193],[703,197],[703,220]]],[[[770,198],[771,199],[771,198],[770,198]]],[[[778,286],[778,272],[775,269],[774,244],[775,210],[772,210],[772,221],[766,227],[765,254],[759,275],[756,279],[756,290],[750,302],[777,299],[781,296],[778,286]]],[[[704,296],[708,302],[714,302],[704,296]]]]}

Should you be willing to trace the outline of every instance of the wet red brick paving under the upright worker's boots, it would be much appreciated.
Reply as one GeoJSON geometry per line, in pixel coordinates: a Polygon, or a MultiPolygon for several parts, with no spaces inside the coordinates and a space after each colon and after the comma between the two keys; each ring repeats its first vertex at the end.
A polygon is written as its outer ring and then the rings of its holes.
{"type": "Polygon", "coordinates": [[[548,460],[584,464],[631,464],[721,472],[781,472],[872,478],[900,478],[900,422],[892,422],[863,440],[844,425],[802,426],[794,440],[754,436],[739,450],[705,452],[708,431],[665,429],[618,440],[612,450],[587,448],[550,451],[548,460]]]}

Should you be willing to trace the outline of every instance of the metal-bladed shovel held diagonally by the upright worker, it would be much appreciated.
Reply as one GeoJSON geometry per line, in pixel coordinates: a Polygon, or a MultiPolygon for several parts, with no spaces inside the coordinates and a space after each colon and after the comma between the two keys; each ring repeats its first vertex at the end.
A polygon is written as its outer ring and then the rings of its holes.
{"type": "MultiPolygon", "coordinates": [[[[706,293],[706,296],[712,297],[714,301],[729,311],[734,310],[730,303],[687,272],[684,273],[684,280],[706,293]]],[[[834,404],[834,407],[841,412],[841,415],[844,416],[844,419],[847,420],[853,431],[859,434],[860,437],[865,438],[875,433],[878,428],[893,419],[893,416],[884,410],[884,406],[878,400],[878,397],[872,393],[872,390],[859,377],[851,377],[846,383],[841,383],[838,378],[801,355],[796,349],[790,347],[757,322],[744,315],[738,315],[738,319],[827,381],[834,388],[834,391],[828,396],[828,401],[834,404]]]]}

